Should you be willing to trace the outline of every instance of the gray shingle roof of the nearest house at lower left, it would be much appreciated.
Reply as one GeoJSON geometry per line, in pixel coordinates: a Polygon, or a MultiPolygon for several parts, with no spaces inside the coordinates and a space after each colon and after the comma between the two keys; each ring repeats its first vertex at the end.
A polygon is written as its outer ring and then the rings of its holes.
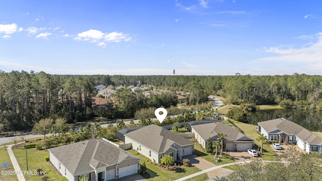
{"type": "Polygon", "coordinates": [[[48,149],[73,174],[120,163],[127,157],[138,157],[104,140],[87,140],[48,149]]]}

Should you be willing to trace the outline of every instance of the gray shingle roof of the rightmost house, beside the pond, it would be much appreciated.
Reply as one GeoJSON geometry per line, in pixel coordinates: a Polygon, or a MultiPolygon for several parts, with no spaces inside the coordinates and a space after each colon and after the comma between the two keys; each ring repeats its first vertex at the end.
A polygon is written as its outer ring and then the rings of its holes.
{"type": "Polygon", "coordinates": [[[316,136],[315,134],[303,128],[302,126],[293,123],[292,121],[289,121],[285,118],[278,118],[259,122],[258,125],[260,125],[268,133],[275,130],[280,130],[288,135],[296,135],[296,137],[309,144],[322,144],[322,138],[316,136]]]}

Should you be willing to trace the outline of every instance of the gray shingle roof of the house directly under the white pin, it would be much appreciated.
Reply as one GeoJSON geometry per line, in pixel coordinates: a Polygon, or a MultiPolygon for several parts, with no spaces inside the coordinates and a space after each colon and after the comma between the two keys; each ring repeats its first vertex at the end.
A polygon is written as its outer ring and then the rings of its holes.
{"type": "Polygon", "coordinates": [[[177,143],[181,146],[194,144],[194,142],[154,124],[127,133],[125,136],[148,147],[156,153],[167,151],[173,143],[177,143]]]}

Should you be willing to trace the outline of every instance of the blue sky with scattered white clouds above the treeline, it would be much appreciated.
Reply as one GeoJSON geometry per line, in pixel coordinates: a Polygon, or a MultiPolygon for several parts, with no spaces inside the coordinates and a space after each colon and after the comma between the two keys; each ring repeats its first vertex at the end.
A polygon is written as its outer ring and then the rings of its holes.
{"type": "Polygon", "coordinates": [[[4,1],[0,69],[283,75],[322,70],[320,1],[4,1]]]}

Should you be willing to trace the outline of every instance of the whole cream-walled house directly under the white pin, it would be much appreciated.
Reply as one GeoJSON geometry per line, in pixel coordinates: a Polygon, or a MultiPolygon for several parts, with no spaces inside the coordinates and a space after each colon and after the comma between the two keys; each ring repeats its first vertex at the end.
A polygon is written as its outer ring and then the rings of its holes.
{"type": "Polygon", "coordinates": [[[129,132],[124,137],[125,143],[132,143],[133,149],[156,163],[160,163],[165,154],[170,154],[176,161],[194,153],[194,142],[154,124],[129,132]]]}

